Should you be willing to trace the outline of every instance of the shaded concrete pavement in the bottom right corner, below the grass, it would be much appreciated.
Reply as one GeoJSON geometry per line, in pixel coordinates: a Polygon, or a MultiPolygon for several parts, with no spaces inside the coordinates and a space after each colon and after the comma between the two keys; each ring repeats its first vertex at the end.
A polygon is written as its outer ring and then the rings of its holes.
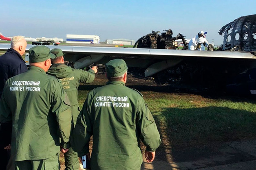
{"type": "Polygon", "coordinates": [[[143,158],[141,170],[256,170],[256,140],[166,150],[157,154],[164,154],[169,159],[147,163],[143,158]]]}

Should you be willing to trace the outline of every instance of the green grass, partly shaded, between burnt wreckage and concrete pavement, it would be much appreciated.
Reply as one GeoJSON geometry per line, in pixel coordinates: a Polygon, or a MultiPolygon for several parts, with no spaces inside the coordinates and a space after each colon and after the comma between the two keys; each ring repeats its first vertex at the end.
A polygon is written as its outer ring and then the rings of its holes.
{"type": "MultiPolygon", "coordinates": [[[[79,91],[82,108],[88,91],[79,91]]],[[[163,145],[186,147],[256,137],[255,100],[142,92],[163,145]]]]}

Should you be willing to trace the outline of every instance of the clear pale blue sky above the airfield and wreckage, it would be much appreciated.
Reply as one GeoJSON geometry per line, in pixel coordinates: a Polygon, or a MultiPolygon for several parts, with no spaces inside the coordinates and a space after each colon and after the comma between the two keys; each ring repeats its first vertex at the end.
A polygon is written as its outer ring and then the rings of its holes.
{"type": "Polygon", "coordinates": [[[153,31],[172,29],[191,39],[207,31],[206,39],[223,44],[222,26],[255,14],[256,0],[4,0],[0,3],[0,32],[6,37],[99,35],[137,41],[153,31]]]}

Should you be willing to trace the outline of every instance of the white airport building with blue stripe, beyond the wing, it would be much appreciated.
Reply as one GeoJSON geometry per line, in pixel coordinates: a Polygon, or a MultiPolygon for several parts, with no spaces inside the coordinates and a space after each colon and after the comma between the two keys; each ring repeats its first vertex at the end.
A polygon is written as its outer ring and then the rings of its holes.
{"type": "Polygon", "coordinates": [[[99,36],[67,34],[66,42],[67,43],[99,44],[99,36]]]}

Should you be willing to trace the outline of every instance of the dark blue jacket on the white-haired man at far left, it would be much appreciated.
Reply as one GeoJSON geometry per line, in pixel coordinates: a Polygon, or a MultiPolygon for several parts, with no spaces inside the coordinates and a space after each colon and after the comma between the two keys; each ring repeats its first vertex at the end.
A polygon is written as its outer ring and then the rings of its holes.
{"type": "Polygon", "coordinates": [[[9,48],[7,52],[0,57],[0,98],[4,89],[4,83],[7,79],[26,71],[27,67],[20,53],[9,48]]]}

